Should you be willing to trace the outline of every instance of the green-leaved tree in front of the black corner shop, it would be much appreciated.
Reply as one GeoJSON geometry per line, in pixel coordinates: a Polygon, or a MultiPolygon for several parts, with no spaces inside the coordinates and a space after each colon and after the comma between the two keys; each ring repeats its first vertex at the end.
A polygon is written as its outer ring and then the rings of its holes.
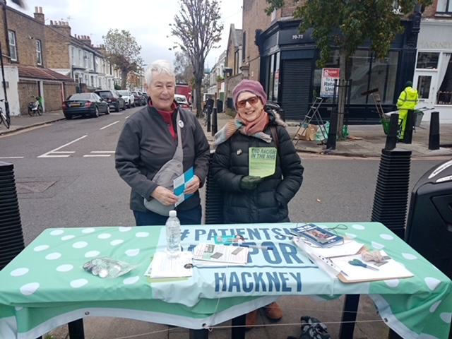
{"type": "MultiPolygon", "coordinates": [[[[285,5],[284,0],[266,0],[270,6],[266,13],[285,5]]],[[[325,66],[330,57],[331,39],[339,47],[340,81],[346,79],[347,61],[357,47],[370,41],[370,50],[378,58],[388,57],[391,42],[403,32],[401,20],[410,15],[416,4],[428,6],[432,0],[306,0],[299,3],[293,13],[301,19],[299,32],[312,28],[320,52],[317,67],[325,66]]],[[[292,1],[290,1],[292,2],[292,1]]],[[[347,79],[348,80],[348,79],[347,79]]],[[[344,112],[342,88],[339,88],[339,112],[344,112]]],[[[343,114],[338,119],[338,137],[343,137],[343,114]]]]}

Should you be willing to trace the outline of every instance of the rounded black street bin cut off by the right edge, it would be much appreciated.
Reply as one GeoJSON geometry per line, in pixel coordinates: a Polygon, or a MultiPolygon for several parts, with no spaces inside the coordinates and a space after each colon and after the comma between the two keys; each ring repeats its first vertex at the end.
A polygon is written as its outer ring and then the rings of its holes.
{"type": "Polygon", "coordinates": [[[405,242],[452,278],[452,160],[432,167],[415,184],[405,242]]]}

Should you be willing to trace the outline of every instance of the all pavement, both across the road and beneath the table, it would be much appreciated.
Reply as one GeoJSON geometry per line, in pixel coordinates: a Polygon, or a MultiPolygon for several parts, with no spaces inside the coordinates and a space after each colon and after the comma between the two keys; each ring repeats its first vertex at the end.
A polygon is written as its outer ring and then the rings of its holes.
{"type": "MultiPolygon", "coordinates": [[[[127,112],[124,112],[127,114],[127,112]]],[[[7,137],[8,133],[18,133],[26,129],[64,119],[63,112],[48,112],[41,117],[11,117],[11,128],[8,130],[0,126],[0,138],[7,137]]],[[[102,119],[102,117],[100,118],[102,119]]],[[[218,114],[218,129],[232,119],[224,113],[218,114]]],[[[202,121],[201,121],[202,122],[202,121]]],[[[293,138],[299,127],[299,121],[287,121],[287,127],[293,138]]],[[[206,131],[206,127],[204,127],[206,131]]],[[[348,126],[350,138],[336,143],[335,150],[326,150],[326,146],[319,141],[294,140],[299,153],[313,153],[321,156],[346,157],[380,157],[385,147],[386,135],[381,125],[348,126]]],[[[211,131],[206,131],[208,141],[213,143],[211,131]]],[[[452,124],[440,126],[439,150],[429,150],[429,124],[424,122],[417,127],[412,136],[412,143],[398,143],[399,148],[412,150],[412,157],[451,157],[452,158],[452,124]]],[[[286,339],[288,335],[299,338],[301,334],[300,316],[314,316],[328,326],[331,338],[338,338],[340,319],[343,311],[343,297],[328,302],[319,302],[308,296],[281,297],[280,307],[283,309],[283,319],[273,322],[266,318],[263,310],[258,316],[258,326],[246,333],[247,339],[286,339]]],[[[237,314],[238,315],[238,314],[237,314]]],[[[179,339],[189,338],[188,330],[174,326],[166,326],[145,321],[118,318],[87,317],[83,321],[86,339],[119,339],[119,338],[153,338],[153,339],[179,339]]],[[[230,339],[231,322],[220,323],[212,328],[210,339],[230,339]]],[[[44,336],[44,339],[68,338],[67,326],[60,326],[44,336]]],[[[388,338],[388,327],[381,320],[369,297],[363,295],[359,302],[359,311],[355,334],[350,339],[382,339],[388,338]]],[[[234,339],[234,338],[232,338],[234,339]]],[[[347,338],[348,339],[348,338],[347,338]]]]}

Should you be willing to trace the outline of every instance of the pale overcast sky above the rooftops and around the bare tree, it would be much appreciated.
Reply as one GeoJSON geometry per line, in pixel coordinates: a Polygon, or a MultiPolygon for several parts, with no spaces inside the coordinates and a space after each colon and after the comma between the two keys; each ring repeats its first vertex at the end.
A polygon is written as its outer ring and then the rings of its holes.
{"type": "MultiPolygon", "coordinates": [[[[206,67],[215,64],[227,47],[230,24],[242,28],[243,0],[220,0],[222,22],[225,26],[219,49],[212,49],[206,67]]],[[[25,0],[27,9],[18,8],[11,1],[8,6],[33,16],[35,6],[42,7],[46,24],[50,20],[69,21],[72,35],[90,35],[92,43],[102,44],[102,36],[110,28],[129,30],[141,45],[145,64],[156,59],[173,61],[169,51],[176,37],[171,36],[169,23],[179,13],[178,0],[25,0]],[[169,36],[169,37],[167,37],[169,36]]]]}

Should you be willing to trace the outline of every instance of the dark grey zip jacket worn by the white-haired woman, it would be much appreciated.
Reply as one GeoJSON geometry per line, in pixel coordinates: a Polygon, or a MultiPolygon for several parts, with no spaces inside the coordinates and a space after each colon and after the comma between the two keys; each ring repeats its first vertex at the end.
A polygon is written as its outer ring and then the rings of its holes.
{"type": "MultiPolygon", "coordinates": [[[[210,147],[206,135],[193,113],[178,107],[183,122],[182,148],[184,149],[184,172],[194,167],[194,174],[206,181],[210,147]]],[[[177,126],[177,112],[172,116],[177,126]]],[[[176,131],[177,133],[177,131],[176,131]]],[[[152,181],[160,167],[171,160],[177,148],[163,120],[154,107],[145,107],[126,120],[119,135],[116,148],[116,169],[119,176],[131,187],[130,208],[138,212],[148,211],[143,197],[150,199],[158,186],[152,181]]],[[[201,203],[199,192],[177,206],[177,210],[191,210],[201,203]]]]}

